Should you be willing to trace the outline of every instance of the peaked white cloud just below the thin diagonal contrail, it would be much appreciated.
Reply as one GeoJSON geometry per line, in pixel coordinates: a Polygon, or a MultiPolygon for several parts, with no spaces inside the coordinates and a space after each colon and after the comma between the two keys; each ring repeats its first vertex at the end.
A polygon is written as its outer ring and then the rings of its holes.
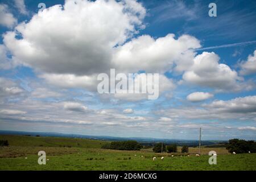
{"type": "Polygon", "coordinates": [[[183,80],[200,86],[223,90],[241,89],[242,78],[226,64],[219,64],[220,57],[214,52],[203,52],[193,59],[192,67],[183,75],[183,80]]]}

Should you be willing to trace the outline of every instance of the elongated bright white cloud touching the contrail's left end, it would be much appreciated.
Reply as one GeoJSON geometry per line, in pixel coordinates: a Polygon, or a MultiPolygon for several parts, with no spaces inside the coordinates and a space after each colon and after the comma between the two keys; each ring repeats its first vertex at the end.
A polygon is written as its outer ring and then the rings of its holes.
{"type": "Polygon", "coordinates": [[[164,73],[174,65],[176,71],[182,72],[192,65],[192,49],[199,47],[199,40],[189,35],[177,39],[174,34],[158,39],[143,35],[115,48],[113,64],[125,72],[164,73]]]}

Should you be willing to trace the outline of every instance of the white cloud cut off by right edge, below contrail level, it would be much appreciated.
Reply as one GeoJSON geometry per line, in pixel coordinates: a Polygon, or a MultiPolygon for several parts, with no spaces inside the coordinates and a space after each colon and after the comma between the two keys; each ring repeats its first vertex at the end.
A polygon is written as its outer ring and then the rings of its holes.
{"type": "Polygon", "coordinates": [[[253,55],[249,55],[247,61],[243,61],[241,63],[241,71],[242,75],[250,75],[256,73],[256,50],[253,55]]]}

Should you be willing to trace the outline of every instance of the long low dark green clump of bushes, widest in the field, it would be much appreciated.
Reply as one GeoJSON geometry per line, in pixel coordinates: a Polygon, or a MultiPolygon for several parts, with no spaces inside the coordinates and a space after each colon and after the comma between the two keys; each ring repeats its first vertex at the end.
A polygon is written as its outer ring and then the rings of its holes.
{"type": "Polygon", "coordinates": [[[134,140],[107,143],[101,148],[113,150],[141,150],[142,145],[134,140]]]}

